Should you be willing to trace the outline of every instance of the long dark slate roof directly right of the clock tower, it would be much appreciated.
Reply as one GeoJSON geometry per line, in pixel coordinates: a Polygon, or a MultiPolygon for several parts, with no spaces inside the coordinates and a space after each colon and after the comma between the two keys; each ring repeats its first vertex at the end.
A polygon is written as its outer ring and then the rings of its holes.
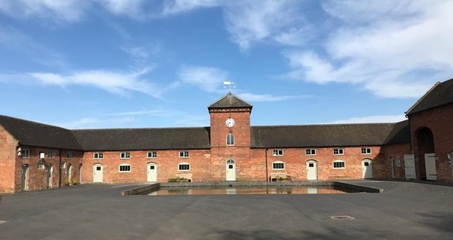
{"type": "Polygon", "coordinates": [[[252,126],[252,148],[383,145],[395,124],[252,126]]]}

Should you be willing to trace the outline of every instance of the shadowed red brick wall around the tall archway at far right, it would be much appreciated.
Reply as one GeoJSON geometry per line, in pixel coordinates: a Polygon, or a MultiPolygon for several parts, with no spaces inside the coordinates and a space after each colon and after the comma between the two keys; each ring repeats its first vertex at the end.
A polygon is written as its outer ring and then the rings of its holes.
{"type": "Polygon", "coordinates": [[[425,176],[422,150],[425,146],[418,144],[418,131],[425,127],[430,129],[434,137],[434,153],[438,157],[438,160],[436,160],[437,181],[452,181],[452,168],[447,157],[449,152],[453,152],[452,119],[453,104],[428,109],[409,116],[412,145],[414,146],[412,153],[415,155],[415,169],[418,178],[425,176]]]}

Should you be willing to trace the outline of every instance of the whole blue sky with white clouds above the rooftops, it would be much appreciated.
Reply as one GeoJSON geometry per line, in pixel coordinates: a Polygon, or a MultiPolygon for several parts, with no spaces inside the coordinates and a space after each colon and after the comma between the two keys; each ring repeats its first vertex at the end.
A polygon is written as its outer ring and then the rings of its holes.
{"type": "Polygon", "coordinates": [[[394,122],[453,78],[453,1],[0,0],[0,114],[66,128],[394,122]]]}

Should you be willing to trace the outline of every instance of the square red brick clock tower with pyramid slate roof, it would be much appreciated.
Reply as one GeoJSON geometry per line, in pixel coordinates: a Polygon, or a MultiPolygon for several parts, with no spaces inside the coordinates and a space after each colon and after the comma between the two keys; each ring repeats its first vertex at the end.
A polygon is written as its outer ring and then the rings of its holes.
{"type": "Polygon", "coordinates": [[[211,119],[212,180],[251,180],[252,105],[228,92],[207,109],[211,119]]]}

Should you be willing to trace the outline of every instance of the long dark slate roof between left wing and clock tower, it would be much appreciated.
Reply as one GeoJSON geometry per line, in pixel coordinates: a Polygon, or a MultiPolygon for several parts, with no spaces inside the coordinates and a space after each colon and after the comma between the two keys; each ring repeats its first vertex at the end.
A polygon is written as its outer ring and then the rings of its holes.
{"type": "Polygon", "coordinates": [[[86,151],[210,149],[210,128],[73,130],[86,151]]]}

